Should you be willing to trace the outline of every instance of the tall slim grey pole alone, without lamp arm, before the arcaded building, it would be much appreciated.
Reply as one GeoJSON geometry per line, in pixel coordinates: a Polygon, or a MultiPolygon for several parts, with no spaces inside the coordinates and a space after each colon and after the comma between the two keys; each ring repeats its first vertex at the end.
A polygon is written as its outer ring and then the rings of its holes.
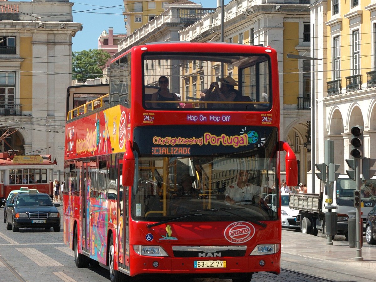
{"type": "MultiPolygon", "coordinates": [[[[315,24],[312,24],[312,58],[315,58],[315,24]]],[[[315,59],[312,60],[312,97],[311,97],[311,189],[312,194],[315,193],[315,151],[316,151],[316,142],[315,142],[315,59]]],[[[318,191],[320,193],[320,191],[318,191]]]]}

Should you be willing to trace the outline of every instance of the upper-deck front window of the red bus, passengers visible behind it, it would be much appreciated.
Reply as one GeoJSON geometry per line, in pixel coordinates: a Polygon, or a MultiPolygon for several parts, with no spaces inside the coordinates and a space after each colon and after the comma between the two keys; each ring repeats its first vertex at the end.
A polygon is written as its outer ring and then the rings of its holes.
{"type": "Polygon", "coordinates": [[[146,109],[267,111],[271,107],[266,55],[147,53],[143,71],[146,109]],[[229,75],[220,77],[221,68],[229,75]]]}

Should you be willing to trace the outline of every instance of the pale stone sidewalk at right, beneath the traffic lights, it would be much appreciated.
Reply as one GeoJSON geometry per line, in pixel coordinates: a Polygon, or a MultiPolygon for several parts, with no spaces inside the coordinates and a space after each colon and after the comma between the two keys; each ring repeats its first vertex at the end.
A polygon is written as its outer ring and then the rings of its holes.
{"type": "Polygon", "coordinates": [[[363,261],[355,261],[356,247],[343,240],[338,236],[327,245],[323,235],[283,229],[281,267],[334,281],[376,281],[376,245],[368,245],[364,238],[363,261]]]}

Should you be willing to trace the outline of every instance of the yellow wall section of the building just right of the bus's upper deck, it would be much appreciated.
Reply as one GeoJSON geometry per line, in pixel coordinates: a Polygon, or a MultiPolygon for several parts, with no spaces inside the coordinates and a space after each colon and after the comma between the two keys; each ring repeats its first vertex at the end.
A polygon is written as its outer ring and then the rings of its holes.
{"type": "Polygon", "coordinates": [[[296,97],[299,97],[299,80],[302,76],[299,74],[302,68],[298,68],[299,62],[297,59],[287,59],[286,54],[291,53],[299,55],[295,49],[299,45],[299,23],[285,22],[283,35],[283,68],[284,68],[284,104],[297,105],[296,97]],[[299,70],[297,72],[297,70],[299,70]]]}

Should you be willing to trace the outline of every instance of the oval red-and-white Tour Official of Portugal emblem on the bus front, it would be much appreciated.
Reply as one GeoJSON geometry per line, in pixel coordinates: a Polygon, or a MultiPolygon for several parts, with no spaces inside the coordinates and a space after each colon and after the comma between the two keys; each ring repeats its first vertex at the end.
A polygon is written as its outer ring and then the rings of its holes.
{"type": "Polygon", "coordinates": [[[246,221],[233,222],[224,229],[224,238],[234,244],[247,242],[254,235],[255,227],[246,221]]]}

